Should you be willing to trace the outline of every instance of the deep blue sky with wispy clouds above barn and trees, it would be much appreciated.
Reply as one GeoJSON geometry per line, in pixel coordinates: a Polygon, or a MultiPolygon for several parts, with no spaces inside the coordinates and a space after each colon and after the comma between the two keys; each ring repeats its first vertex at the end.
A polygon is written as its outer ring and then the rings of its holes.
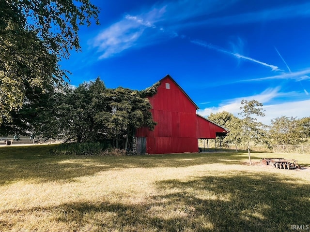
{"type": "Polygon", "coordinates": [[[144,89],[170,74],[200,107],[238,116],[242,99],[278,116],[310,116],[310,2],[93,0],[100,26],[80,29],[82,52],[62,68],[78,86],[144,89]]]}

